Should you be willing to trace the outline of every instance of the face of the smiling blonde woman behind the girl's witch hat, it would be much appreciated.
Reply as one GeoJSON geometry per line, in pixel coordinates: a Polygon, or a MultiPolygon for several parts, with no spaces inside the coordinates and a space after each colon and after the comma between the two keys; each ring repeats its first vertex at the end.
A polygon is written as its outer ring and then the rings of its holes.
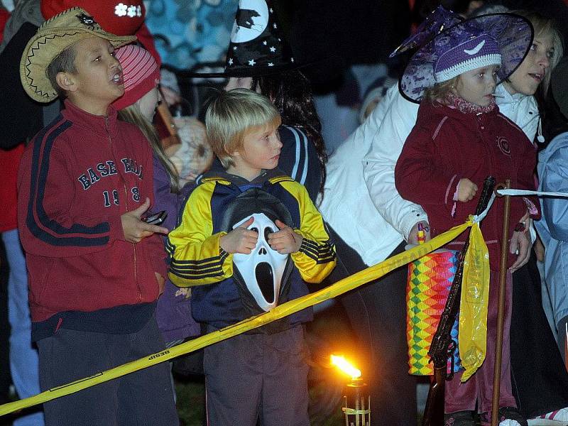
{"type": "Polygon", "coordinates": [[[513,72],[505,84],[510,94],[521,93],[527,96],[535,94],[540,82],[545,78],[550,60],[555,55],[552,36],[541,34],[535,36],[530,50],[517,70],[513,72]]]}

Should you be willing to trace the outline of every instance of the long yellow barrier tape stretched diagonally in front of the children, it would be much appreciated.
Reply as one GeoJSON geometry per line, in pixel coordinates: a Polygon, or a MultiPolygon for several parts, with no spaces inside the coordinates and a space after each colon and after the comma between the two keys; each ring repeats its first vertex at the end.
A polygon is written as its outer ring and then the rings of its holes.
{"type": "Polygon", "coordinates": [[[102,371],[94,374],[93,376],[85,377],[72,383],[67,383],[65,385],[58,386],[57,388],[52,388],[48,391],[38,393],[38,395],[14,401],[13,403],[0,405],[0,416],[22,410],[23,408],[28,408],[33,405],[43,404],[55,398],[70,395],[70,393],[82,391],[83,389],[90,388],[91,386],[99,383],[124,376],[128,373],[132,373],[133,371],[138,371],[143,368],[159,364],[160,362],[168,361],[176,356],[197,351],[197,349],[201,349],[204,346],[221,342],[222,340],[229,339],[237,334],[261,327],[269,322],[280,320],[280,318],[286,317],[294,312],[298,312],[306,307],[316,305],[324,300],[342,295],[343,293],[353,290],[354,288],[368,283],[369,281],[381,278],[386,273],[415,261],[417,258],[430,253],[430,251],[439,249],[441,246],[444,246],[444,244],[455,239],[469,226],[471,226],[471,220],[465,224],[455,226],[449,231],[444,232],[444,234],[440,234],[424,244],[420,244],[419,246],[407,250],[404,253],[397,254],[381,263],[377,263],[375,266],[371,266],[370,268],[366,268],[363,271],[339,280],[337,283],[329,285],[326,288],[322,288],[322,290],[285,302],[282,305],[275,307],[270,312],[265,312],[261,315],[257,315],[256,317],[251,317],[247,320],[230,325],[229,327],[225,327],[224,329],[217,330],[216,332],[205,334],[204,336],[193,339],[190,342],[185,342],[178,346],[173,346],[170,349],[165,349],[158,353],[151,354],[145,358],[137,359],[136,361],[131,361],[127,364],[111,368],[110,370],[102,371]]]}

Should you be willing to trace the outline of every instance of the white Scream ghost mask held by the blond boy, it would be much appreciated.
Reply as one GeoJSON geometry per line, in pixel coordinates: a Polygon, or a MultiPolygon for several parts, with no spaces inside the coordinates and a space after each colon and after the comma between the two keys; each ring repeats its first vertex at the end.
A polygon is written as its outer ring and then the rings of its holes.
{"type": "Polygon", "coordinates": [[[278,305],[288,254],[280,254],[268,245],[268,234],[278,231],[278,226],[266,214],[252,214],[235,224],[233,229],[251,217],[254,222],[248,229],[258,232],[256,246],[250,254],[234,253],[233,263],[258,307],[268,312],[278,305]]]}

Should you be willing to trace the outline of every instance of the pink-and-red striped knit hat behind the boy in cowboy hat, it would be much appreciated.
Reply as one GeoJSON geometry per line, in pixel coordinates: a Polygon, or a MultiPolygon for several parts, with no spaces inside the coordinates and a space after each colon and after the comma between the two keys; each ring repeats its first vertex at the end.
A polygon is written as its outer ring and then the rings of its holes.
{"type": "Polygon", "coordinates": [[[137,45],[116,49],[116,59],[124,77],[124,94],[112,104],[119,110],[136,103],[155,87],[160,80],[160,67],[148,50],[137,45]]]}

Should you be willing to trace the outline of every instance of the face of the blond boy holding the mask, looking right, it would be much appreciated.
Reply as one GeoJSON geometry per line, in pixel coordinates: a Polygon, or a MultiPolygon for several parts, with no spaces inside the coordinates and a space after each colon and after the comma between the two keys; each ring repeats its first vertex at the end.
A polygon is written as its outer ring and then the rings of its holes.
{"type": "Polygon", "coordinates": [[[231,155],[235,163],[234,168],[240,176],[252,180],[260,175],[262,170],[271,170],[278,166],[280,148],[282,143],[278,136],[278,126],[253,129],[244,136],[242,148],[231,155]]]}

